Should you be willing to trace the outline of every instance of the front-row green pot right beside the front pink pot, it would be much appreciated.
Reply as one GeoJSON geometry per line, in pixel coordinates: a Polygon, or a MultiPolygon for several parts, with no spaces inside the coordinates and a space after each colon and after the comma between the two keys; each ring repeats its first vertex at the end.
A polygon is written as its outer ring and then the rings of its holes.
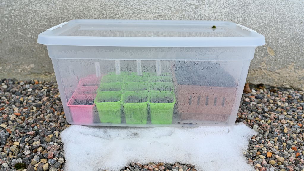
{"type": "Polygon", "coordinates": [[[102,123],[121,123],[122,92],[98,92],[94,100],[102,123]]]}

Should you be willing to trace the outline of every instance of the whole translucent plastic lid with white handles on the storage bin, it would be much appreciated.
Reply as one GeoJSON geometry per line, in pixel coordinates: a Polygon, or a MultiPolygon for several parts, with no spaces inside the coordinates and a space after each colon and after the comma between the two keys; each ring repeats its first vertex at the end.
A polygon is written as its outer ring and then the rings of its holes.
{"type": "Polygon", "coordinates": [[[76,19],[38,35],[38,43],[114,47],[256,47],[263,35],[223,21],[76,19]]]}

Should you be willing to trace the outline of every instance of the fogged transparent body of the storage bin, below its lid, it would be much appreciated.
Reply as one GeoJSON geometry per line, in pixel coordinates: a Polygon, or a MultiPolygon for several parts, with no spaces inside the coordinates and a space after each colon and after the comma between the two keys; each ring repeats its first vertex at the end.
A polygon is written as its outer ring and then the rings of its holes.
{"type": "Polygon", "coordinates": [[[51,46],[67,121],[232,125],[255,47],[51,46]]]}

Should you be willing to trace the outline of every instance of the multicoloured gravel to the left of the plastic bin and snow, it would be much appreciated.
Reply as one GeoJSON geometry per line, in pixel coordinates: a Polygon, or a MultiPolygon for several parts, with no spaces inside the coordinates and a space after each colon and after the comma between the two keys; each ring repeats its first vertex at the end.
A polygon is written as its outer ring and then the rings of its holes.
{"type": "Polygon", "coordinates": [[[56,83],[0,80],[1,171],[60,170],[67,126],[56,83]]]}

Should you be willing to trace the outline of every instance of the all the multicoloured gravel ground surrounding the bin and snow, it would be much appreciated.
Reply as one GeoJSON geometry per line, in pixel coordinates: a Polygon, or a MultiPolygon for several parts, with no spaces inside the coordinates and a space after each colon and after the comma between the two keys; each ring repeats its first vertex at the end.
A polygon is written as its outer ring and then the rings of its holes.
{"type": "MultiPolygon", "coordinates": [[[[258,171],[304,171],[303,93],[245,87],[237,122],[259,132],[244,154],[258,171]]],[[[0,80],[0,171],[63,170],[59,135],[68,126],[55,82],[0,80]]],[[[122,171],[167,169],[195,171],[187,164],[133,162],[122,171]]]]}

